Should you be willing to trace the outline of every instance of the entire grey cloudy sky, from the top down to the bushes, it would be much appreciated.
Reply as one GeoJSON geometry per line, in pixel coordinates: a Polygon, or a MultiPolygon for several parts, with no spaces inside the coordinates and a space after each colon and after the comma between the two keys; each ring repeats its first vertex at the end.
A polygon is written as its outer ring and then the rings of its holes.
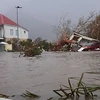
{"type": "Polygon", "coordinates": [[[52,26],[67,14],[76,23],[91,11],[100,11],[100,0],[0,0],[0,13],[16,21],[15,6],[19,9],[19,23],[30,31],[30,37],[54,39],[52,26]]]}

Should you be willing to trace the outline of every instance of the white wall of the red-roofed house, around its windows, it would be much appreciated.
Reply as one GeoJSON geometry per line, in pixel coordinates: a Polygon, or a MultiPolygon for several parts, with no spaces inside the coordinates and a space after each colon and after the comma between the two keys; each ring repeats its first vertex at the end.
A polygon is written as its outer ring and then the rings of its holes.
{"type": "MultiPolygon", "coordinates": [[[[4,30],[5,30],[6,38],[17,38],[17,35],[16,35],[17,26],[4,25],[4,30]],[[13,35],[10,34],[10,29],[13,29],[13,35]]],[[[18,30],[19,30],[18,33],[19,33],[20,39],[28,39],[28,31],[27,30],[25,30],[24,28],[21,28],[21,27],[18,27],[18,30]]]]}

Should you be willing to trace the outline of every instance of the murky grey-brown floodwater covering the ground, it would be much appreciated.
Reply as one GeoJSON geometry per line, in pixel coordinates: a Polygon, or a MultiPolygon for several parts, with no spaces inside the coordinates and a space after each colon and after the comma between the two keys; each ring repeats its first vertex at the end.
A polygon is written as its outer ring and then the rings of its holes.
{"type": "MultiPolygon", "coordinates": [[[[80,77],[87,71],[100,72],[100,51],[46,52],[37,57],[0,52],[0,93],[16,95],[13,100],[22,100],[17,96],[28,90],[40,95],[38,100],[47,100],[58,96],[52,90],[67,85],[68,77],[80,77]]],[[[100,77],[95,78],[98,79],[90,83],[100,84],[100,77]]]]}

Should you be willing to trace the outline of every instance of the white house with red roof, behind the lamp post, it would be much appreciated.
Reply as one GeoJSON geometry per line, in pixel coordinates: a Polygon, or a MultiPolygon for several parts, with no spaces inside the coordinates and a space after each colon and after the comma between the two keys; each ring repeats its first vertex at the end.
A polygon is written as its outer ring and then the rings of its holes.
{"type": "Polygon", "coordinates": [[[28,30],[0,14],[0,39],[8,41],[12,38],[26,40],[28,39],[28,30]]]}

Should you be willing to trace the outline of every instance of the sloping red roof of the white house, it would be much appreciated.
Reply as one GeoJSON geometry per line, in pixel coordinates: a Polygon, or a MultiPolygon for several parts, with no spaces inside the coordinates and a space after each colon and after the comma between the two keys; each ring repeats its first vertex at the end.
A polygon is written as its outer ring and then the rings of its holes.
{"type": "MultiPolygon", "coordinates": [[[[11,25],[11,26],[20,26],[16,22],[12,21],[11,19],[7,18],[6,16],[0,14],[0,26],[1,25],[11,25]]],[[[26,28],[20,26],[21,28],[27,30],[26,28]]]]}

